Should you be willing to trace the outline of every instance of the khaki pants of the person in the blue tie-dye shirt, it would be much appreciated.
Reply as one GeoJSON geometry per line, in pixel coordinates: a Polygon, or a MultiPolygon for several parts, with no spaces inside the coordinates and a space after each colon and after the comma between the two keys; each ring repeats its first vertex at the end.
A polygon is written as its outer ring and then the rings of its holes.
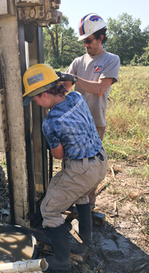
{"type": "Polygon", "coordinates": [[[62,211],[66,211],[72,204],[89,203],[89,192],[106,176],[107,155],[103,149],[100,152],[104,161],[95,156],[94,160],[84,158],[82,162],[65,160],[62,163],[62,170],[51,179],[40,206],[43,227],[62,225],[65,222],[62,211]]]}

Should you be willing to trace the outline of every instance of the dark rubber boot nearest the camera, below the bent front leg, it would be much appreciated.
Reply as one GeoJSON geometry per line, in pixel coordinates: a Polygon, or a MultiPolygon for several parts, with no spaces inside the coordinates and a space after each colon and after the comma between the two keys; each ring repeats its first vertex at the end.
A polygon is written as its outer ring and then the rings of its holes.
{"type": "Polygon", "coordinates": [[[57,228],[47,228],[55,255],[46,258],[48,270],[67,272],[71,269],[70,243],[65,223],[57,228]]]}

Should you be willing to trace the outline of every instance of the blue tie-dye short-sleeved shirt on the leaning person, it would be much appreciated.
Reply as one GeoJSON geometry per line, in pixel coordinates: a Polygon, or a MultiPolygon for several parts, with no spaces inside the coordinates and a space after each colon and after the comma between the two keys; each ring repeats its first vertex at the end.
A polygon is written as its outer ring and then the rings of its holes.
{"type": "Polygon", "coordinates": [[[92,157],[101,150],[92,115],[77,91],[53,106],[43,121],[43,133],[52,149],[62,143],[67,159],[92,157]]]}

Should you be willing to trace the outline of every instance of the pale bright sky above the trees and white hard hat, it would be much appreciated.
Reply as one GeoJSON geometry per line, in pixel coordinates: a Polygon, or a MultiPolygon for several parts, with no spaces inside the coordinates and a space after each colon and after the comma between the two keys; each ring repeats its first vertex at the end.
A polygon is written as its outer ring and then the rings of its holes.
{"type": "Polygon", "coordinates": [[[133,19],[140,19],[141,30],[149,25],[149,0],[61,0],[58,11],[68,17],[77,35],[79,19],[88,13],[98,13],[105,22],[109,17],[117,19],[122,13],[128,13],[133,19]]]}

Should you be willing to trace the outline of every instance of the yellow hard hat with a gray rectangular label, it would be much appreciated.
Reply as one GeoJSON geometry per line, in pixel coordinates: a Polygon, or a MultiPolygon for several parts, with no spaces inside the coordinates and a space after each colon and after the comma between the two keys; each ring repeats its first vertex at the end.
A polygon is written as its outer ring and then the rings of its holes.
{"type": "Polygon", "coordinates": [[[59,79],[52,67],[37,64],[29,67],[23,75],[25,93],[23,96],[35,96],[55,85],[59,79]],[[38,89],[38,90],[37,90],[38,89]]]}

